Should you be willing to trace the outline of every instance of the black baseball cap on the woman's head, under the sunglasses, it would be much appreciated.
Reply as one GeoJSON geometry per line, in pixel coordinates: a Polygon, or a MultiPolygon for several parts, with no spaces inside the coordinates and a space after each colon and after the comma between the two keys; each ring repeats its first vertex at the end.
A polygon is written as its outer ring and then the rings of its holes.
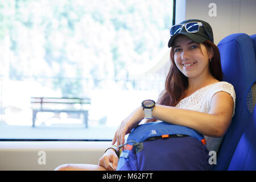
{"type": "Polygon", "coordinates": [[[203,26],[199,27],[199,31],[195,33],[190,33],[185,30],[185,27],[182,28],[182,30],[171,36],[169,42],[168,42],[168,47],[174,46],[174,40],[177,36],[179,35],[185,35],[191,40],[193,40],[196,43],[203,43],[205,40],[210,40],[212,43],[213,42],[213,32],[212,32],[212,27],[210,27],[210,24],[199,19],[189,19],[189,20],[184,20],[183,22],[180,22],[179,24],[184,24],[184,23],[189,23],[189,22],[201,22],[203,26]]]}

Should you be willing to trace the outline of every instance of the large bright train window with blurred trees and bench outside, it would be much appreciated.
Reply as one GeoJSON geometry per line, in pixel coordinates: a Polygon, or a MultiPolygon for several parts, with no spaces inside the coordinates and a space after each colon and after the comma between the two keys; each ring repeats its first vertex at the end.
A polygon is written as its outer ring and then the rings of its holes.
{"type": "Polygon", "coordinates": [[[170,0],[1,1],[0,139],[111,140],[164,89],[172,11],[170,0]]]}

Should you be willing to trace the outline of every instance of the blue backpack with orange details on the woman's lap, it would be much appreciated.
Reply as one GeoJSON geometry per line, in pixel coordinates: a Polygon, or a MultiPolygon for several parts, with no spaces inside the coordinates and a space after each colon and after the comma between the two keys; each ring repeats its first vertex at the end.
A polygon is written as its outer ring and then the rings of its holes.
{"type": "Polygon", "coordinates": [[[212,169],[204,136],[185,126],[166,122],[139,125],[122,146],[117,170],[212,169]]]}

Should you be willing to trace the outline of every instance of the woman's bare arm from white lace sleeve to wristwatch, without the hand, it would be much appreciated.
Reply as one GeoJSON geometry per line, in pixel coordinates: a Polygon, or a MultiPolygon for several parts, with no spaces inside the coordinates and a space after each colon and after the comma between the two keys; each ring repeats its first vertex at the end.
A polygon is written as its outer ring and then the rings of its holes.
{"type": "Polygon", "coordinates": [[[212,97],[209,114],[156,105],[152,116],[174,125],[190,127],[209,137],[222,137],[230,125],[233,105],[234,102],[230,94],[217,92],[212,97]]]}

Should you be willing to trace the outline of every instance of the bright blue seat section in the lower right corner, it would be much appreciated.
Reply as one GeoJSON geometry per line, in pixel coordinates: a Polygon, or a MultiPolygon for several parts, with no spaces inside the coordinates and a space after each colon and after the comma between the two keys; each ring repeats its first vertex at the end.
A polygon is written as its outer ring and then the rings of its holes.
{"type": "Polygon", "coordinates": [[[228,170],[256,170],[256,105],[237,145],[228,170]]]}

